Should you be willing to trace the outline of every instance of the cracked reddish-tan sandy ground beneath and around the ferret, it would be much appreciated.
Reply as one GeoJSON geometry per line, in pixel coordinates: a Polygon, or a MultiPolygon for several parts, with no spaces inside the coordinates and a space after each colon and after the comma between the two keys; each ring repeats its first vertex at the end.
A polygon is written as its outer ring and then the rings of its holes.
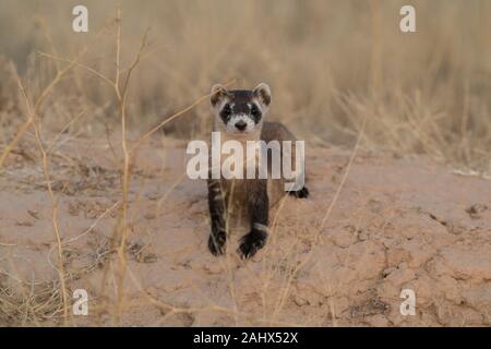
{"type": "MultiPolygon", "coordinates": [[[[424,158],[360,151],[321,227],[350,152],[307,144],[306,154],[311,196],[277,207],[267,245],[242,262],[233,232],[226,256],[207,251],[206,185],[185,177],[184,143],[145,144],[131,180],[122,324],[491,325],[490,181],[424,158]],[[403,289],[416,293],[414,316],[399,312],[403,289]]],[[[36,156],[16,152],[0,174],[0,285],[11,300],[58,279],[36,156]]],[[[83,288],[89,297],[89,314],[71,316],[73,325],[111,324],[111,312],[97,304],[104,264],[115,299],[118,257],[109,240],[118,215],[111,207],[121,197],[118,168],[105,140],[71,141],[52,157],[69,293],[83,288]]],[[[20,323],[0,311],[0,325],[20,323]]]]}

